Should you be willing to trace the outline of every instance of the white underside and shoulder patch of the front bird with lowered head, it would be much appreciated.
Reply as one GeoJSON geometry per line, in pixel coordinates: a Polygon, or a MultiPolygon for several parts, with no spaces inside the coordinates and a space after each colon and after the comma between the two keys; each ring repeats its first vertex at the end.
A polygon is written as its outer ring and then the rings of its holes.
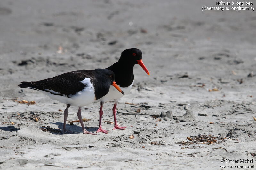
{"type": "MultiPolygon", "coordinates": [[[[41,91],[41,92],[48,95],[51,99],[57,100],[61,103],[71,104],[73,106],[81,107],[81,106],[88,105],[95,100],[94,87],[90,81],[90,78],[85,78],[83,81],[81,81],[81,83],[86,85],[86,87],[82,91],[79,91],[74,95],[69,95],[69,97],[54,95],[45,91],[41,91]]],[[[57,92],[53,91],[53,93],[57,93],[57,92]]]]}

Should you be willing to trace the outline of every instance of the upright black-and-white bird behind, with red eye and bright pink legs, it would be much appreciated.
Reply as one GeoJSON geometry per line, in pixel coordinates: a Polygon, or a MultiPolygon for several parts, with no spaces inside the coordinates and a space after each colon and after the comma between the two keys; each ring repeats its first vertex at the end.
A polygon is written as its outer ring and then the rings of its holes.
{"type": "MultiPolygon", "coordinates": [[[[115,81],[117,85],[122,89],[124,94],[128,94],[132,88],[134,75],[133,75],[133,66],[135,64],[139,64],[142,69],[149,75],[149,71],[146,66],[142,62],[142,52],[137,48],[126,49],[121,53],[121,56],[118,62],[114,63],[110,67],[106,68],[115,73],[116,78],[115,81]]],[[[104,97],[96,100],[100,101],[100,121],[99,121],[99,129],[97,132],[108,133],[107,130],[102,129],[101,127],[101,117],[103,115],[102,107],[105,101],[114,100],[114,107],[112,109],[115,126],[114,129],[124,130],[126,127],[121,127],[117,125],[116,121],[116,105],[118,100],[124,96],[124,94],[118,93],[114,90],[114,88],[110,87],[109,92],[104,97]]]]}

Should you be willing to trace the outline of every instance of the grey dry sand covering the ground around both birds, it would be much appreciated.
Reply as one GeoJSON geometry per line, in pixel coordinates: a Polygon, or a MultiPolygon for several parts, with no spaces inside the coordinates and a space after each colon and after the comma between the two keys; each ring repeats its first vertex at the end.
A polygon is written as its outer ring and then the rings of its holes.
{"type": "MultiPolygon", "coordinates": [[[[2,0],[0,169],[255,165],[256,13],[203,12],[202,6],[215,1],[2,0]],[[41,130],[62,128],[58,110],[65,105],[19,89],[21,81],[106,68],[126,48],[139,48],[151,73],[136,65],[131,93],[117,105],[117,120],[126,130],[112,130],[112,101],[104,105],[108,134],[84,135],[80,123],[67,125],[74,134],[41,130]],[[170,118],[151,116],[167,111],[170,118]],[[198,135],[216,139],[200,143],[193,138],[198,135]]],[[[99,108],[83,107],[82,117],[91,119],[84,122],[87,130],[97,130],[99,108]]],[[[77,120],[76,112],[70,107],[68,120],[77,120]]]]}

